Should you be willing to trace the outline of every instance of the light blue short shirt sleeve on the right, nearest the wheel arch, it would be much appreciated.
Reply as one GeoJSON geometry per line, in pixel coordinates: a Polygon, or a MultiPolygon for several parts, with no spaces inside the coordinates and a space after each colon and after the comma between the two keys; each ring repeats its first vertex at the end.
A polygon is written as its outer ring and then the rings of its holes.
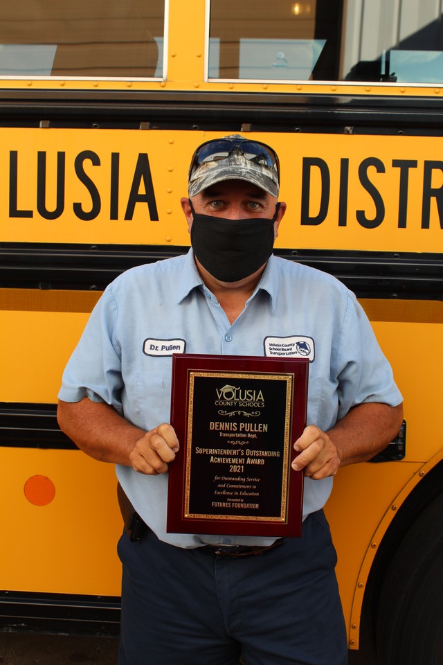
{"type": "Polygon", "coordinates": [[[402,397],[372,326],[352,292],[348,295],[336,357],[338,420],[352,407],[381,402],[392,407],[402,397]]]}

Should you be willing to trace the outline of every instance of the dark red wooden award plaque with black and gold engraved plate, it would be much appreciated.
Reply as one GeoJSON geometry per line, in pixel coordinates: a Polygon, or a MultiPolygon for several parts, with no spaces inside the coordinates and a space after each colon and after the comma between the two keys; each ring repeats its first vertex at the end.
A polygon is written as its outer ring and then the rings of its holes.
{"type": "Polygon", "coordinates": [[[167,530],[298,536],[309,360],[174,355],[167,530]]]}

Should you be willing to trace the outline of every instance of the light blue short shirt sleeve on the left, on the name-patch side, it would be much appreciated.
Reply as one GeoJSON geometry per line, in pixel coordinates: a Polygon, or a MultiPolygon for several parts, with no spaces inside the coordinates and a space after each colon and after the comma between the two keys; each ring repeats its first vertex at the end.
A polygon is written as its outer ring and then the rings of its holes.
{"type": "Polygon", "coordinates": [[[80,342],[66,365],[60,400],[79,402],[88,397],[121,411],[121,348],[116,339],[118,308],[108,286],[93,309],[80,342]]]}

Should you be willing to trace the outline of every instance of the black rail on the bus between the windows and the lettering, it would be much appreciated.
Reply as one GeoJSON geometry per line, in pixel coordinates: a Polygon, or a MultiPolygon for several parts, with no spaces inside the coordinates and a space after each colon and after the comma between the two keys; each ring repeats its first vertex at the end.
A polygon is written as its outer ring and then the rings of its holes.
{"type": "Polygon", "coordinates": [[[2,127],[441,136],[443,99],[434,93],[337,88],[335,94],[3,89],[0,121],[2,127]]]}

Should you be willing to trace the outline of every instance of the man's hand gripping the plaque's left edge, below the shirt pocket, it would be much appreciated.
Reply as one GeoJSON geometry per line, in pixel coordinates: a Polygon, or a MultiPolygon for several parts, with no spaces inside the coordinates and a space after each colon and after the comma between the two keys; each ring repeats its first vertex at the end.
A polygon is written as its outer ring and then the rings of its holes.
{"type": "Polygon", "coordinates": [[[136,471],[156,476],[168,471],[168,464],[175,459],[178,450],[174,427],[163,423],[136,441],[129,453],[129,462],[136,471]]]}

